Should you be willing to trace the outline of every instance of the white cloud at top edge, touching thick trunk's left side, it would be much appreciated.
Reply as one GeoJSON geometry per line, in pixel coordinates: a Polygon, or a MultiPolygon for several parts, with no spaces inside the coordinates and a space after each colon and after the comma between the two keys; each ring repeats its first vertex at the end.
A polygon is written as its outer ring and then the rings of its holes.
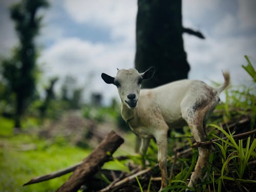
{"type": "Polygon", "coordinates": [[[136,0],[66,0],[64,5],[81,25],[106,27],[111,30],[113,39],[124,38],[131,44],[135,40],[136,3],[136,0]]]}

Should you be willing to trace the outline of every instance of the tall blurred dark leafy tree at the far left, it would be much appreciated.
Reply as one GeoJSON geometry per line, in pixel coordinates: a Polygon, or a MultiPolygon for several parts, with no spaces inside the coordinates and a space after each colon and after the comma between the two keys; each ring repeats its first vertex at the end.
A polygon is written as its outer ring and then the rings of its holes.
{"type": "Polygon", "coordinates": [[[19,45],[11,59],[4,59],[3,77],[7,87],[15,95],[15,127],[20,128],[20,117],[27,108],[35,91],[36,47],[34,39],[39,33],[41,16],[36,16],[39,8],[47,7],[47,0],[22,0],[10,8],[10,16],[15,23],[19,45]]]}

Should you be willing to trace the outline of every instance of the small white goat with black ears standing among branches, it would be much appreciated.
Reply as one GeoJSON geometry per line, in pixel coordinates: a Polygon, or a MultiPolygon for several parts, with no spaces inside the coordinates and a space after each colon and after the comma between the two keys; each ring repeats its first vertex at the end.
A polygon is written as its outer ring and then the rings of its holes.
{"type": "MultiPolygon", "coordinates": [[[[224,73],[225,82],[219,88],[209,87],[199,80],[179,80],[157,87],[142,89],[143,79],[151,78],[155,73],[150,68],[144,73],[136,69],[117,71],[116,77],[104,73],[102,79],[113,83],[121,99],[121,115],[132,131],[142,140],[140,152],[145,153],[151,138],[158,145],[158,162],[161,170],[161,189],[168,184],[166,157],[167,131],[169,128],[188,125],[197,142],[205,141],[203,122],[214,110],[219,94],[229,84],[229,73],[224,73]]],[[[188,186],[194,187],[210,153],[210,147],[199,147],[199,157],[195,171],[191,174],[188,186]]],[[[160,189],[160,190],[161,190],[160,189]]]]}

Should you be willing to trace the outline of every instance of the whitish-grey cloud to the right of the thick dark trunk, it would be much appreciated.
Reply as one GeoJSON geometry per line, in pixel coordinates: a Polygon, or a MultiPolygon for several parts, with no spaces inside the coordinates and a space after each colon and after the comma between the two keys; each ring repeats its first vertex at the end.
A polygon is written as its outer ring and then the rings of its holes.
{"type": "MultiPolygon", "coordinates": [[[[221,1],[197,0],[183,3],[183,22],[192,27],[200,24],[206,30],[203,31],[206,34],[205,40],[183,36],[191,67],[189,78],[222,82],[221,70],[229,70],[233,84],[250,82],[251,78],[241,66],[246,63],[244,55],[251,56],[252,61],[255,59],[256,33],[245,34],[256,25],[253,16],[255,1],[238,0],[238,6],[226,12],[223,10],[229,9],[221,9],[221,6],[229,4],[221,1]],[[208,19],[211,26],[207,23],[208,19]]],[[[231,2],[229,6],[232,6],[231,2]]]]}

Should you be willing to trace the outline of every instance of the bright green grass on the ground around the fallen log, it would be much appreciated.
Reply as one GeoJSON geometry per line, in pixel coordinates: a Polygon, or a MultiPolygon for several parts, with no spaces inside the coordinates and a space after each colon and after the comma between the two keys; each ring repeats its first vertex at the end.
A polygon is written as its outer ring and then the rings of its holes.
{"type": "MultiPolygon", "coordinates": [[[[71,175],[55,178],[49,181],[23,186],[34,177],[47,175],[57,170],[67,168],[81,162],[91,153],[69,143],[65,138],[56,137],[41,139],[36,133],[28,134],[29,127],[35,127],[36,120],[30,118],[25,132],[13,135],[13,121],[0,117],[0,191],[55,191],[71,175]],[[25,134],[26,133],[26,134],[25,134]],[[26,150],[27,149],[27,150],[26,150]],[[26,150],[26,151],[24,151],[26,150]]],[[[38,128],[36,128],[38,129],[38,128]]],[[[134,134],[127,137],[134,140],[134,134]]],[[[132,143],[132,142],[131,142],[132,143]]],[[[126,144],[126,145],[130,145],[126,144]]],[[[126,150],[118,150],[116,155],[128,155],[126,150]]],[[[126,170],[127,161],[110,161],[102,168],[126,170]]]]}

